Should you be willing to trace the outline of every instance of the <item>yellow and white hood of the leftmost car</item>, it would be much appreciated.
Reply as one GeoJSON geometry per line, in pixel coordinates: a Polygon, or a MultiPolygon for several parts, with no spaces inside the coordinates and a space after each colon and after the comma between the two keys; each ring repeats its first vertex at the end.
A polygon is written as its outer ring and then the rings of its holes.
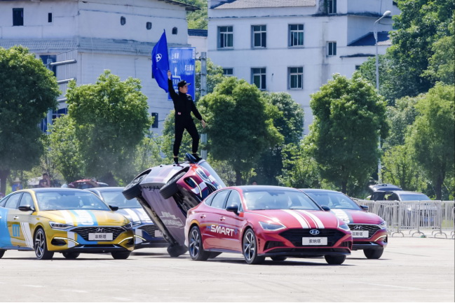
{"type": "Polygon", "coordinates": [[[112,211],[91,211],[88,209],[40,211],[38,216],[48,218],[57,223],[66,223],[74,226],[121,226],[129,223],[128,219],[120,213],[114,213],[112,211]]]}

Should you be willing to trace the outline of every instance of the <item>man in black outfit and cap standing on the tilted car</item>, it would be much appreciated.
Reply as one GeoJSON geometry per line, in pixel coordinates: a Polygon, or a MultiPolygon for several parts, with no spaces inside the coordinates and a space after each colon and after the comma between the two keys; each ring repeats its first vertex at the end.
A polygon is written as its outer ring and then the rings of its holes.
{"type": "Polygon", "coordinates": [[[168,71],[168,89],[170,97],[174,102],[175,109],[175,141],[172,150],[175,164],[179,164],[179,149],[185,129],[193,139],[193,146],[191,148],[193,156],[196,158],[196,161],[201,160],[197,154],[199,146],[198,129],[196,129],[193,118],[191,118],[191,112],[193,112],[198,120],[201,120],[202,127],[205,127],[205,121],[199,113],[198,108],[196,108],[193,98],[191,98],[189,94],[186,94],[186,92],[188,92],[188,85],[190,84],[191,83],[186,83],[185,80],[180,81],[179,84],[177,84],[177,87],[179,87],[179,93],[177,94],[172,86],[171,73],[168,71]]]}

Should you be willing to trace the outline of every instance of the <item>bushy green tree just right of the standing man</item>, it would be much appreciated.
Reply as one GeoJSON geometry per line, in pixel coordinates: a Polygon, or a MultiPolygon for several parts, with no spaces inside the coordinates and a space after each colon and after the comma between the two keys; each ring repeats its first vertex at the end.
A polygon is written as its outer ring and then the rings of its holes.
{"type": "Polygon", "coordinates": [[[264,150],[283,141],[273,126],[278,109],[245,80],[225,78],[199,106],[208,122],[208,151],[216,160],[232,165],[236,185],[243,184],[242,174],[252,169],[264,150]]]}

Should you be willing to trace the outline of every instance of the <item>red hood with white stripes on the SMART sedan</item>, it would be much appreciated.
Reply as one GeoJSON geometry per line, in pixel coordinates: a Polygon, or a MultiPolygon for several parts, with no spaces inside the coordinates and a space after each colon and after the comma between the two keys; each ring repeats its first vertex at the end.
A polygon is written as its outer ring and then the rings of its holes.
{"type": "Polygon", "coordinates": [[[281,223],[287,228],[337,228],[339,219],[330,211],[304,211],[297,209],[273,209],[248,211],[257,220],[266,223],[281,223]]]}

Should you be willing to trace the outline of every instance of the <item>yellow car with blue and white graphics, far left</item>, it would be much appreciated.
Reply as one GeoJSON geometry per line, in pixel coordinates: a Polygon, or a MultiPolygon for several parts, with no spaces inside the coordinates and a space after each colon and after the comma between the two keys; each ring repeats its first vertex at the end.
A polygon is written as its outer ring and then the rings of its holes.
{"type": "Polygon", "coordinates": [[[80,253],[111,253],[126,259],[135,247],[133,226],[115,206],[86,190],[34,188],[0,200],[0,258],[6,250],[54,253],[74,259],[80,253]]]}

